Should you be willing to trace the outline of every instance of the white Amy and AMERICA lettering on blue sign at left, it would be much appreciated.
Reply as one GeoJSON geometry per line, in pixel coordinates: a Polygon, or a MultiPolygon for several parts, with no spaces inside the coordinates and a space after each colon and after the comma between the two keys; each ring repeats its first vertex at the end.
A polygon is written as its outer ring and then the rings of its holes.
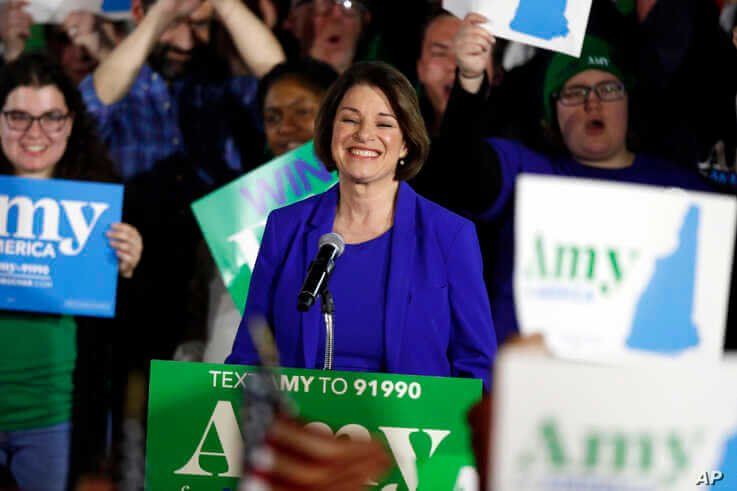
{"type": "MultiPolygon", "coordinates": [[[[97,221],[107,209],[108,205],[105,203],[72,200],[61,200],[57,203],[51,198],[41,198],[34,203],[26,196],[16,196],[10,199],[7,195],[0,195],[0,237],[58,242],[60,253],[65,256],[76,256],[84,249],[97,221]],[[72,237],[62,237],[59,234],[61,217],[59,205],[72,229],[72,237]],[[89,222],[84,216],[86,207],[92,208],[92,217],[89,222]],[[17,210],[18,213],[18,221],[13,233],[8,231],[8,216],[11,209],[17,210]],[[41,213],[41,233],[39,235],[33,231],[33,220],[37,211],[41,213]]],[[[47,251],[41,250],[41,247],[34,242],[23,242],[23,246],[14,245],[12,248],[7,246],[8,242],[4,241],[4,249],[14,251],[8,254],[36,257],[48,255],[47,251]]]]}

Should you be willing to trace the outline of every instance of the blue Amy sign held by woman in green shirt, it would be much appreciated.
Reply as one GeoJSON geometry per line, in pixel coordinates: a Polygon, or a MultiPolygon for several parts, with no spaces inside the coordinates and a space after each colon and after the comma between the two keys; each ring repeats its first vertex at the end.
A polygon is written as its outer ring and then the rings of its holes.
{"type": "Polygon", "coordinates": [[[0,176],[0,309],[112,317],[123,186],[0,176]]]}

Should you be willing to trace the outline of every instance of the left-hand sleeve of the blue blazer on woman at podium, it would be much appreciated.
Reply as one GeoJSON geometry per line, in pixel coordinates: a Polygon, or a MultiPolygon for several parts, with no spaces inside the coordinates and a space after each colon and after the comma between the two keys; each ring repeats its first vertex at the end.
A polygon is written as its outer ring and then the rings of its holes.
{"type": "Polygon", "coordinates": [[[233,349],[225,363],[241,365],[258,365],[260,360],[256,348],[248,332],[248,322],[254,316],[262,316],[270,326],[274,325],[273,291],[276,271],[279,264],[279,245],[275,232],[273,214],[266,220],[264,236],[261,240],[256,264],[251,275],[251,284],[248,288],[246,308],[243,311],[238,332],[233,342],[233,349]]]}

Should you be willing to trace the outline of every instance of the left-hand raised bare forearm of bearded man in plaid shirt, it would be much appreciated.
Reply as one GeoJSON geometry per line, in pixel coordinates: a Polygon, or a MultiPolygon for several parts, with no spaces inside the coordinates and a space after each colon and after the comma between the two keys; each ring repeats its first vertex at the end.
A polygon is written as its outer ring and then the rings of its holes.
{"type": "Polygon", "coordinates": [[[124,98],[166,28],[201,4],[202,0],[159,0],[153,4],[138,27],[95,70],[100,101],[110,105],[124,98]]]}

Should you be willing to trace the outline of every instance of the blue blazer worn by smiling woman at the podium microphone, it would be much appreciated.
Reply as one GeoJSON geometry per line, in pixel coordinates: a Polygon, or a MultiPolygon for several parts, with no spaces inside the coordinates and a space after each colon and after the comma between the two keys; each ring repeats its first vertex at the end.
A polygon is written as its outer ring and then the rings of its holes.
{"type": "MultiPolygon", "coordinates": [[[[258,364],[246,325],[261,314],[274,329],[284,366],[320,368],[320,306],[298,312],[297,294],[320,236],[332,231],[338,195],[334,186],[269,215],[226,363],[258,364]]],[[[384,306],[387,371],[479,378],[488,390],[496,337],[473,223],[400,183],[392,233],[384,306]]]]}

